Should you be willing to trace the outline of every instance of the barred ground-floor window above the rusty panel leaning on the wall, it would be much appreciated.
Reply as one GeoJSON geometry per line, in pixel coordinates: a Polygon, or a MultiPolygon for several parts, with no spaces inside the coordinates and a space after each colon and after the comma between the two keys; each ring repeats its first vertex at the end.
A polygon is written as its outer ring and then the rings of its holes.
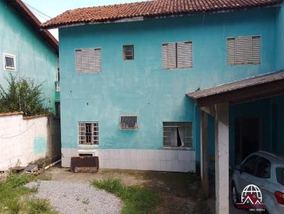
{"type": "Polygon", "coordinates": [[[99,123],[79,123],[79,145],[99,145],[99,123]]]}

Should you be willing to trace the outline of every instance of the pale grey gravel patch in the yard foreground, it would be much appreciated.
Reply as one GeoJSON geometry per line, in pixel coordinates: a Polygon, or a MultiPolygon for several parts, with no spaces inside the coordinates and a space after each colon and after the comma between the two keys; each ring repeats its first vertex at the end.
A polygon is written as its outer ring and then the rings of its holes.
{"type": "Polygon", "coordinates": [[[89,184],[65,181],[38,181],[26,184],[38,187],[37,198],[47,198],[62,214],[120,213],[121,201],[116,196],[89,184]]]}

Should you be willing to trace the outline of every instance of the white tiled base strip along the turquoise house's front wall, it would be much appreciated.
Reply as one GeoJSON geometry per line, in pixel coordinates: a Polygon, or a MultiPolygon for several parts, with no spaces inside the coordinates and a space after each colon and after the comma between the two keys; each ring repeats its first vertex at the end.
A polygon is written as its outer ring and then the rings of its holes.
{"type": "MultiPolygon", "coordinates": [[[[62,167],[70,167],[78,149],[62,148],[62,167]]],[[[194,171],[195,151],[191,150],[96,150],[101,169],[153,171],[194,171]]]]}

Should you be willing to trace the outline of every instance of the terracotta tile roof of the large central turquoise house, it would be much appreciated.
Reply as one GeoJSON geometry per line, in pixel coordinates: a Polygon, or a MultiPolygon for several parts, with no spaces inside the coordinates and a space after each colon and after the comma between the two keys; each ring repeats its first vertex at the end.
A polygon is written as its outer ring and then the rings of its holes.
{"type": "Polygon", "coordinates": [[[278,4],[282,0],[153,0],[111,6],[95,6],[66,11],[42,24],[42,28],[58,28],[75,23],[115,21],[139,16],[167,16],[201,11],[244,9],[278,4]]]}

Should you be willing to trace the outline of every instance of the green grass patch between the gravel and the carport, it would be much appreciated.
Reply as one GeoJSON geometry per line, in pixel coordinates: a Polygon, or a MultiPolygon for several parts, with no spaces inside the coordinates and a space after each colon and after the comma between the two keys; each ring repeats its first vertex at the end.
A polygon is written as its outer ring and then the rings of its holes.
{"type": "Polygon", "coordinates": [[[155,213],[155,207],[158,205],[158,193],[155,191],[139,186],[126,186],[113,176],[100,181],[92,181],[91,184],[121,198],[124,201],[123,214],[155,213]]]}

